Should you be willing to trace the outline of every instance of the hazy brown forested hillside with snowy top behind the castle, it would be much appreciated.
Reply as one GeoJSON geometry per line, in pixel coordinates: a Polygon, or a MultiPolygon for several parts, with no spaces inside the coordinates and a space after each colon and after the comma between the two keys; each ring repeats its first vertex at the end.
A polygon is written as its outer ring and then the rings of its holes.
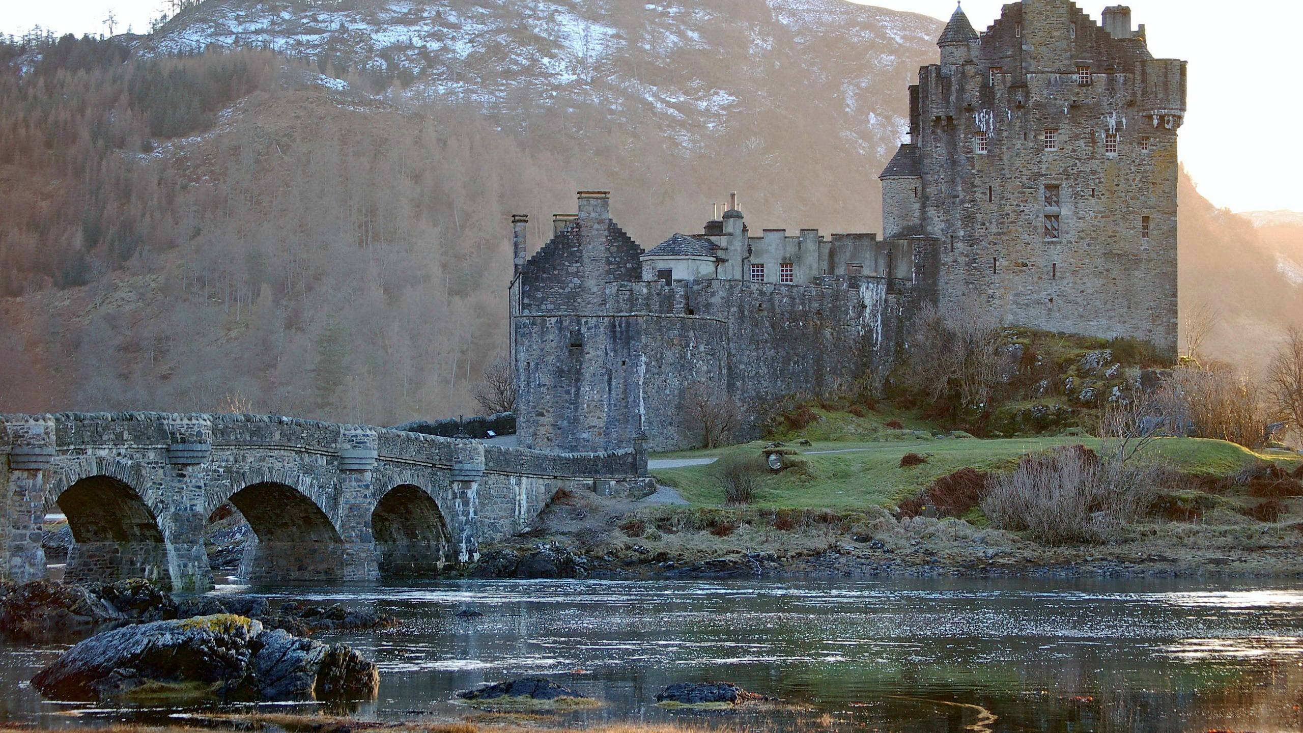
{"type": "MultiPolygon", "coordinates": [[[[941,25],[842,0],[207,0],[152,37],[4,44],[0,411],[472,412],[508,214],[537,248],[610,188],[650,247],[740,190],[753,226],[877,231],[941,25]]],[[[1182,201],[1183,301],[1233,274],[1273,338],[1303,288],[1182,201]]]]}

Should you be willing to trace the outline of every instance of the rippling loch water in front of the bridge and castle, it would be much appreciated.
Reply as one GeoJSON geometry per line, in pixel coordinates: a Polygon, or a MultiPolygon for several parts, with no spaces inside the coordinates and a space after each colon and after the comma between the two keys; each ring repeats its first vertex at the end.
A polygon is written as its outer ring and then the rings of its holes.
{"type": "MultiPolygon", "coordinates": [[[[367,719],[474,715],[459,690],[547,676],[603,702],[558,713],[556,724],[1303,730],[1303,583],[443,580],[215,592],[399,617],[397,629],[322,636],[379,664],[379,699],[351,708],[367,719]],[[463,609],[483,617],[457,618],[463,609]],[[736,712],[654,702],[671,682],[710,680],[782,702],[736,712]]],[[[0,644],[0,720],[85,726],[203,712],[42,700],[26,681],[60,651],[0,644]]]]}

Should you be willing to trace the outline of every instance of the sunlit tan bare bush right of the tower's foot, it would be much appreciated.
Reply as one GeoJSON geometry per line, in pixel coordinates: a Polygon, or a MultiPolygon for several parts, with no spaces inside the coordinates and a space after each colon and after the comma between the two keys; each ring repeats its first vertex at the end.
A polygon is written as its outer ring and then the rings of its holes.
{"type": "Polygon", "coordinates": [[[1178,366],[1156,399],[1174,434],[1214,438],[1246,447],[1263,443],[1267,410],[1257,385],[1230,365],[1178,366]]]}

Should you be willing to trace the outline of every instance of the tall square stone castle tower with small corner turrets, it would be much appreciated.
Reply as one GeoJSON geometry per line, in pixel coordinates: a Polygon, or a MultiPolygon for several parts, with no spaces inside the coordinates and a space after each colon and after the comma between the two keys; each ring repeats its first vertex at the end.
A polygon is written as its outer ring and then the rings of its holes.
{"type": "Polygon", "coordinates": [[[1068,0],[1005,5],[981,35],[956,9],[938,46],[880,176],[885,237],[939,241],[943,312],[1174,357],[1186,63],[1154,59],[1130,8],[1101,25],[1068,0]]]}

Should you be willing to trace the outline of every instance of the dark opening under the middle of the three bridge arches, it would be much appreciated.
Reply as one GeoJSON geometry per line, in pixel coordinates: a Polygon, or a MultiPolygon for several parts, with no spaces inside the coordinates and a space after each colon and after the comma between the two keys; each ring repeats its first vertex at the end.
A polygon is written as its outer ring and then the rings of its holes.
{"type": "Polygon", "coordinates": [[[292,486],[251,484],[228,500],[249,522],[249,543],[238,575],[246,580],[337,580],[344,546],[330,516],[292,486]]]}

